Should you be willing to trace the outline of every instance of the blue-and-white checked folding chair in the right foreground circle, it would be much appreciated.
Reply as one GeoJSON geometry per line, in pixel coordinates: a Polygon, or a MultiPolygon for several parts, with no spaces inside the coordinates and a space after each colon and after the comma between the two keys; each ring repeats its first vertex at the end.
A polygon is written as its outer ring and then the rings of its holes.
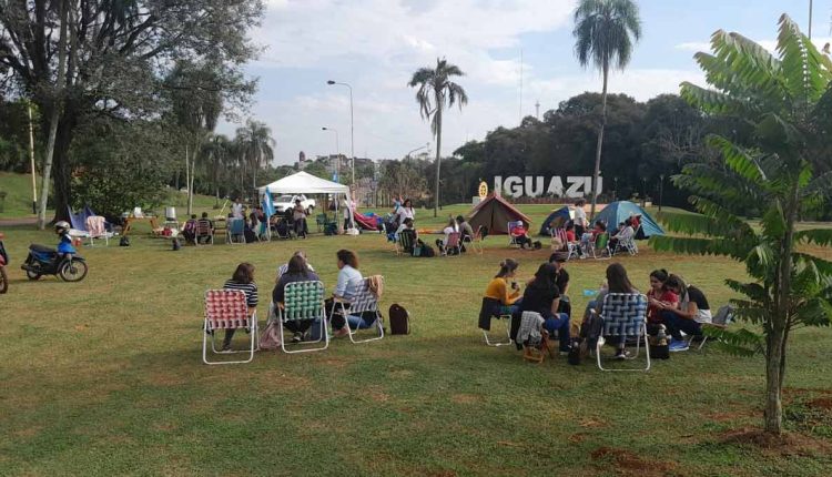
{"type": "Polygon", "coordinates": [[[601,366],[601,345],[603,339],[596,344],[596,359],[601,371],[650,371],[650,345],[647,342],[647,296],[641,293],[610,293],[603,297],[601,308],[601,336],[605,339],[615,337],[626,341],[628,337],[636,338],[636,355],[627,359],[636,359],[639,356],[641,341],[645,341],[645,355],[647,355],[647,367],[626,369],[605,369],[601,366]]]}

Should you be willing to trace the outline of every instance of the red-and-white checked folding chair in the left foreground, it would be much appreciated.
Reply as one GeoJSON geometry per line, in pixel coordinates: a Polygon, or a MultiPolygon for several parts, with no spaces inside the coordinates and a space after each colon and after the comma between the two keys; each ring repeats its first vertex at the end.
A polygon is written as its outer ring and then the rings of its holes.
{"type": "Polygon", "coordinates": [[[205,322],[202,334],[202,362],[205,364],[236,364],[251,363],[254,352],[260,348],[257,337],[257,314],[248,316],[248,305],[245,302],[245,293],[240,290],[209,290],[205,292],[205,322]],[[216,349],[214,338],[220,329],[246,329],[251,335],[251,347],[243,351],[221,352],[216,349]],[[246,361],[221,361],[210,362],[207,359],[207,339],[211,336],[211,351],[214,354],[248,353],[246,361]]]}

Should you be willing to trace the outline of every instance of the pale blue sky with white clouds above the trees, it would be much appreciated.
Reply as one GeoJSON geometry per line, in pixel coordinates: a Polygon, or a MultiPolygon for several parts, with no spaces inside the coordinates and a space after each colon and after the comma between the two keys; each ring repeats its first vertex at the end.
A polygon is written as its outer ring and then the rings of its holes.
{"type": "MultiPolygon", "coordinates": [[[[242,120],[265,122],[276,142],[275,164],[351,154],[398,159],[424,148],[435,154],[429,123],[419,115],[407,82],[444,57],[465,77],[469,102],[444,115],[443,155],[488,131],[514,128],[601,79],[574,53],[574,0],[264,0],[266,14],[251,31],[262,47],[246,65],[258,91],[242,120]],[[520,61],[522,58],[522,61],[520,61]],[[337,131],[323,131],[322,128],[337,131]],[[337,148],[337,151],[336,151],[337,148]]],[[[693,53],[708,49],[718,29],[737,31],[772,49],[777,22],[788,13],[808,30],[809,0],[639,0],[642,38],[625,71],[610,77],[610,92],[646,101],[678,93],[679,83],[704,84],[693,53]]],[[[830,41],[832,0],[814,0],[816,43],[830,41]]],[[[223,121],[219,132],[233,135],[223,121]]],[[[419,151],[420,152],[420,151],[419,151]]]]}

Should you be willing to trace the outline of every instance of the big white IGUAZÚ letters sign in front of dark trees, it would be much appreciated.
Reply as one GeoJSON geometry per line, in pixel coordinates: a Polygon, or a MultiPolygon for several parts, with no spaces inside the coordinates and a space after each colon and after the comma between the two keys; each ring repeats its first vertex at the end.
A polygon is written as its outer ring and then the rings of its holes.
{"type": "MultiPolygon", "coordinates": [[[[601,193],[603,177],[598,177],[598,193],[601,193]]],[[[579,199],[592,195],[592,177],[569,175],[564,181],[560,176],[547,177],[531,176],[519,177],[511,175],[503,179],[501,175],[494,176],[494,190],[499,191],[503,195],[519,199],[539,197],[541,195],[551,195],[556,197],[579,199]]]]}

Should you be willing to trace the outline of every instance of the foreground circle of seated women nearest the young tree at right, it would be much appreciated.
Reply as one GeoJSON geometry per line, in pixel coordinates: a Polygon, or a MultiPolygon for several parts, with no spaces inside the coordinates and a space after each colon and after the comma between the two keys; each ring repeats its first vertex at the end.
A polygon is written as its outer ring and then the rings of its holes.
{"type": "MultiPolygon", "coordinates": [[[[561,353],[568,353],[570,347],[579,345],[580,339],[588,336],[589,321],[593,316],[603,316],[605,297],[610,293],[641,293],[632,285],[627,276],[627,270],[620,263],[607,267],[606,281],[597,296],[591,300],[580,323],[570,329],[571,306],[566,295],[569,288],[569,274],[564,267],[565,257],[555,253],[548,263],[541,264],[535,276],[526,282],[520,291],[517,281],[519,264],[507,258],[500,263],[500,270],[486,287],[479,313],[479,327],[490,329],[493,317],[511,316],[510,337],[518,348],[522,343],[517,342],[517,329],[524,312],[539,313],[544,318],[544,328],[549,333],[558,333],[561,353]],[[571,336],[578,334],[577,341],[571,336]]],[[[687,284],[684,280],[666,270],[656,270],[649,276],[647,333],[656,336],[666,333],[670,336],[668,349],[683,352],[690,346],[690,341],[702,336],[702,325],[712,322],[711,309],[704,293],[698,287],[687,284]]],[[[617,346],[616,357],[628,357],[626,339],[609,337],[607,343],[617,346]]],[[[591,347],[595,344],[588,343],[591,347]]]]}

